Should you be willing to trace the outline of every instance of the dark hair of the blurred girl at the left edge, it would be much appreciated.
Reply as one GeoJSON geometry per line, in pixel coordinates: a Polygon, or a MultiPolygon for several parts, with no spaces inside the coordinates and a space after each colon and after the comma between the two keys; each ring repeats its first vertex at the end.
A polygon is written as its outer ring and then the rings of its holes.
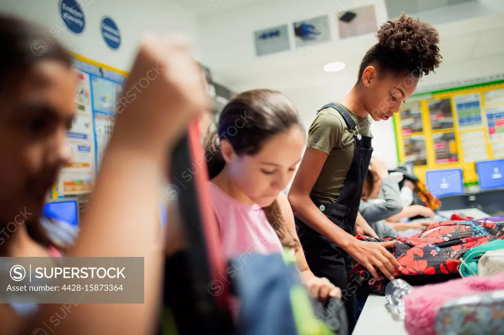
{"type": "MultiPolygon", "coordinates": [[[[55,39],[48,40],[43,28],[19,18],[0,14],[0,91],[16,89],[27,73],[40,61],[57,61],[69,68],[72,58],[55,39]],[[47,43],[46,43],[47,42],[47,43]],[[14,84],[13,84],[14,82],[14,84]]],[[[38,243],[53,245],[38,218],[30,219],[28,233],[38,243]]]]}

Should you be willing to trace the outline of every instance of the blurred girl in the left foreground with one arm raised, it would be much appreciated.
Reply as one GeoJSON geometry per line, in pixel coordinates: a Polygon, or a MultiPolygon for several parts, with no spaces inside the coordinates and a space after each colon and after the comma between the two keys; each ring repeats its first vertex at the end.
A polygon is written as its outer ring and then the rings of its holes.
{"type": "MultiPolygon", "coordinates": [[[[30,213],[0,245],[0,255],[48,257],[51,242],[38,219],[45,195],[67,159],[76,73],[70,56],[55,41],[43,55],[33,54],[34,41],[44,40],[40,27],[0,15],[0,40],[0,228],[6,228],[19,213],[30,213]]],[[[124,93],[156,66],[163,69],[162,75],[117,115],[81,232],[67,253],[71,257],[143,257],[145,302],[73,305],[58,324],[59,335],[150,334],[158,327],[164,259],[160,185],[174,144],[188,122],[209,108],[209,99],[199,68],[179,38],[146,37],[124,93]]],[[[2,332],[43,333],[47,320],[61,313],[61,308],[41,304],[35,315],[19,322],[19,309],[2,305],[2,332]]]]}

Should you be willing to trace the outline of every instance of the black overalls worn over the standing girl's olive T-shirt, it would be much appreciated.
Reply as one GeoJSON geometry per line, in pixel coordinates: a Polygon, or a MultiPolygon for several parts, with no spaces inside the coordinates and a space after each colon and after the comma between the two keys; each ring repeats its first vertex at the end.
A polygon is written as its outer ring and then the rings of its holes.
{"type": "MultiPolygon", "coordinates": [[[[373,151],[371,137],[361,136],[358,133],[355,121],[343,106],[328,104],[319,112],[325,108],[334,108],[343,116],[348,131],[354,135],[355,148],[352,164],[336,203],[312,200],[334,224],[353,235],[362,187],[373,151]]],[[[355,292],[357,290],[357,285],[349,283],[347,279],[352,269],[352,258],[329,238],[311,229],[298,218],[296,218],[296,229],[310,270],[317,277],[326,277],[341,289],[341,297],[345,302],[348,317],[349,333],[351,333],[356,323],[355,292]]]]}

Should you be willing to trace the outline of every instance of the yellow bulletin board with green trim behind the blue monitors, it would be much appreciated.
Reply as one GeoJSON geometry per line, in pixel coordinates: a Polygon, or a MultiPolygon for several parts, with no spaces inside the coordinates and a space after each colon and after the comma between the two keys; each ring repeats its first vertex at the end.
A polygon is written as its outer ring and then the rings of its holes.
{"type": "Polygon", "coordinates": [[[400,162],[425,171],[462,169],[475,184],[475,162],[504,158],[504,80],[414,95],[394,115],[400,162]]]}

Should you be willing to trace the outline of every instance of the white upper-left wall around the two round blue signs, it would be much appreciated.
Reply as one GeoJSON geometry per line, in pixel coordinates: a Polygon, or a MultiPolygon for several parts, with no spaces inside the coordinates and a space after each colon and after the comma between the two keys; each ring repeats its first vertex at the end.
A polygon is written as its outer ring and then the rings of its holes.
{"type": "Polygon", "coordinates": [[[59,16],[59,0],[2,0],[0,10],[17,14],[47,27],[47,41],[65,43],[73,51],[92,60],[129,70],[145,31],[160,34],[182,33],[193,44],[196,58],[203,61],[196,17],[173,0],[80,0],[85,15],[84,31],[75,35],[66,29],[59,16]],[[111,50],[101,36],[100,22],[106,15],[117,24],[121,46],[111,50]]]}

